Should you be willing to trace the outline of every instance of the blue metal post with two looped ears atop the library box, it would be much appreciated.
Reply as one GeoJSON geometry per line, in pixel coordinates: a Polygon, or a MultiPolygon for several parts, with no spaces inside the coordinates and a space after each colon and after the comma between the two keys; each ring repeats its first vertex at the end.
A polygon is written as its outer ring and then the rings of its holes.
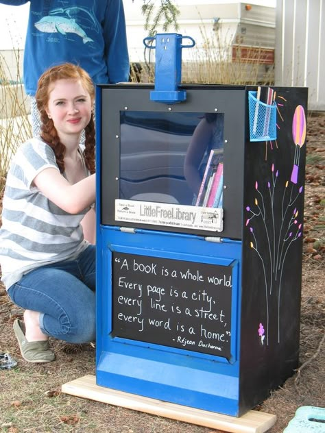
{"type": "Polygon", "coordinates": [[[156,49],[155,90],[150,92],[150,100],[163,103],[184,101],[186,90],[178,88],[182,77],[182,48],[194,47],[195,40],[190,36],[165,33],[145,38],[143,43],[149,49],[156,49]],[[182,45],[183,39],[191,43],[182,45]],[[153,45],[154,41],[156,45],[153,45]]]}

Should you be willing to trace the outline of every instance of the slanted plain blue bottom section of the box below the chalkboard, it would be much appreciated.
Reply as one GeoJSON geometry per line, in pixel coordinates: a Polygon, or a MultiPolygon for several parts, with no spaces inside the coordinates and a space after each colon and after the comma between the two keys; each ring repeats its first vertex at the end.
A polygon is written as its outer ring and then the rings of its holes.
{"type": "Polygon", "coordinates": [[[237,377],[160,360],[103,352],[97,385],[226,415],[239,411],[237,377]]]}

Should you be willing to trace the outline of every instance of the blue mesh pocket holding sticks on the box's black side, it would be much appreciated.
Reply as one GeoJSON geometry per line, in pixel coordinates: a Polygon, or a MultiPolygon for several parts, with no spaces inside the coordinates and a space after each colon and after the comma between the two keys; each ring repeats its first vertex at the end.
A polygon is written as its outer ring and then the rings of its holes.
{"type": "Polygon", "coordinates": [[[257,92],[248,92],[250,141],[276,140],[276,103],[267,105],[256,99],[257,92]]]}

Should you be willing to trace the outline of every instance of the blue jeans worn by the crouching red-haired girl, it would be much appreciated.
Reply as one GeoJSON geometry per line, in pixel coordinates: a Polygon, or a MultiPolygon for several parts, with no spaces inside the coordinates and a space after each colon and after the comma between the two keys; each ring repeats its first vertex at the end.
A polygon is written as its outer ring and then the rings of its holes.
{"type": "Polygon", "coordinates": [[[95,245],[77,260],[30,271],[8,289],[12,301],[40,312],[40,330],[69,343],[95,340],[95,245]]]}

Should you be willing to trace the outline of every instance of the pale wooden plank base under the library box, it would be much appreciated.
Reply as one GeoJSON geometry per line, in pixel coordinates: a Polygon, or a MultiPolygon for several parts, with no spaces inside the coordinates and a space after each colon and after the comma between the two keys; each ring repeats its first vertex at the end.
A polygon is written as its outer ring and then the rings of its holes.
{"type": "Polygon", "coordinates": [[[276,415],[250,410],[242,417],[230,417],[206,410],[189,408],[140,395],[123,393],[114,389],[96,385],[93,375],[72,380],[62,385],[62,392],[86,399],[101,401],[102,403],[121,406],[152,415],[159,415],[185,423],[203,425],[208,428],[224,430],[230,433],[263,433],[276,422],[276,415]]]}

